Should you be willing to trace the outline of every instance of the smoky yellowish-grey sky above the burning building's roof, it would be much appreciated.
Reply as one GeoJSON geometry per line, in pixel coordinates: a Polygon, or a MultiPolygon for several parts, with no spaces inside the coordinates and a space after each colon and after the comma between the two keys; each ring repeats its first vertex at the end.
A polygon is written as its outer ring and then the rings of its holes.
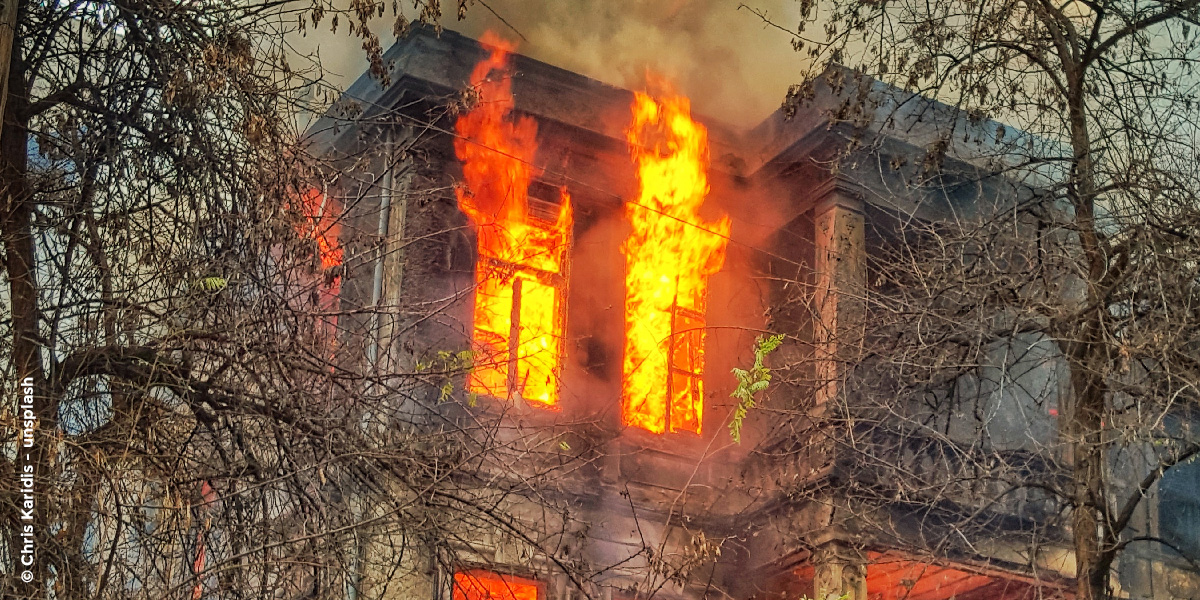
{"type": "MultiPolygon", "coordinates": [[[[522,54],[623,88],[641,88],[650,68],[690,96],[697,113],[749,127],[779,107],[805,62],[786,31],[739,8],[743,1],[784,28],[798,23],[796,0],[487,0],[472,2],[461,22],[456,2],[443,0],[451,12],[443,26],[472,37],[492,29],[522,54]]],[[[384,48],[395,40],[391,24],[389,5],[372,24],[384,48]]],[[[361,40],[344,26],[331,34],[326,22],[294,43],[319,50],[329,83],[340,89],[366,70],[361,40]]]]}

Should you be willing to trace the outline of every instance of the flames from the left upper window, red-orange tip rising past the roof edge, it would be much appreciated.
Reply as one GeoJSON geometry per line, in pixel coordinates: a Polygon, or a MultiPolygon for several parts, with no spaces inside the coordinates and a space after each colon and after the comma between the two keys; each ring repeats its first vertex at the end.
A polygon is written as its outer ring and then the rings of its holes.
{"type": "Polygon", "coordinates": [[[566,248],[571,206],[559,192],[553,220],[529,210],[538,125],[512,116],[505,72],[512,46],[485,34],[491,54],[470,74],[478,104],[458,119],[455,155],[466,186],[458,208],[479,236],[475,265],[476,366],[468,389],[553,406],[563,347],[566,248]]]}

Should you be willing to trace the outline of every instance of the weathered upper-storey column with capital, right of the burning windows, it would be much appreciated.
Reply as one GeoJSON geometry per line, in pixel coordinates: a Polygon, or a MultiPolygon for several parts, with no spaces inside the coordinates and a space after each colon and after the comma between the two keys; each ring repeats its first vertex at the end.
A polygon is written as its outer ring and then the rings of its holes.
{"type": "Polygon", "coordinates": [[[846,368],[853,366],[862,348],[866,289],[863,200],[836,181],[821,193],[823,197],[814,209],[812,295],[818,407],[845,391],[846,368]]]}

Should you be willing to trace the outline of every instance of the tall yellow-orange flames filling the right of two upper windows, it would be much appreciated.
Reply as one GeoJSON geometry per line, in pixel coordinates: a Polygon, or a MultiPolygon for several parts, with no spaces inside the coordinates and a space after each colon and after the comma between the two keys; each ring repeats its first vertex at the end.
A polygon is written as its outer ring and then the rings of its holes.
{"type": "Polygon", "coordinates": [[[626,131],[638,194],[625,209],[628,425],[654,433],[700,433],[703,416],[704,301],[708,276],[725,263],[730,220],[706,223],[708,132],[688,98],[637,92],[626,131]]]}

